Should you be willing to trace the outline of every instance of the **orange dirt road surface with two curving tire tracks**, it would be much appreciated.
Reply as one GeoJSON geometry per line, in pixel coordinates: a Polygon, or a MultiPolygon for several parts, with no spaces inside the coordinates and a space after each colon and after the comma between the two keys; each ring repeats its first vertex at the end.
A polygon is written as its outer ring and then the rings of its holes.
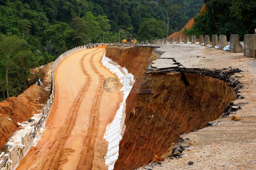
{"type": "Polygon", "coordinates": [[[76,52],[56,67],[55,100],[46,130],[17,170],[108,169],[103,135],[123,96],[119,90],[103,90],[105,78],[117,77],[101,63],[105,48],[76,52]]]}

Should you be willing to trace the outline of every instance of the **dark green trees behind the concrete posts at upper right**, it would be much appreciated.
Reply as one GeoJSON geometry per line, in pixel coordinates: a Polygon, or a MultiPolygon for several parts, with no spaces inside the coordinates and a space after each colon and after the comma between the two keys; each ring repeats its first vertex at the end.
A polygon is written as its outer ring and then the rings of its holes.
{"type": "MultiPolygon", "coordinates": [[[[254,34],[256,28],[256,0],[204,0],[205,15],[194,18],[195,25],[184,30],[186,35],[238,34],[243,40],[245,34],[254,34]]],[[[211,36],[210,36],[211,38],[211,36]]]]}

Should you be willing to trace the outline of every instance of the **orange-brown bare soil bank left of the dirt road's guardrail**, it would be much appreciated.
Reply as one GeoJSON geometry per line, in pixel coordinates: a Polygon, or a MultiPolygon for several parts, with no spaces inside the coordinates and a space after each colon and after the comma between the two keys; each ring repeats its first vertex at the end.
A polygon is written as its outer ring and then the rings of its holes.
{"type": "MultiPolygon", "coordinates": [[[[12,135],[19,125],[17,122],[28,120],[43,108],[50,93],[38,85],[31,85],[18,97],[9,97],[0,102],[0,124],[9,135],[12,135]],[[8,118],[10,119],[8,119],[8,118]]],[[[0,127],[0,145],[4,145],[9,135],[0,127]]]]}

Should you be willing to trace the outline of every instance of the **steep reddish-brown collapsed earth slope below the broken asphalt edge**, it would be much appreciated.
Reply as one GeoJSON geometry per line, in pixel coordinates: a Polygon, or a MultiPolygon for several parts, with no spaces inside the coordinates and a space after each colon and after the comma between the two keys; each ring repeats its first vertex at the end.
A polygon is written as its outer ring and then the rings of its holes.
{"type": "Polygon", "coordinates": [[[154,155],[164,155],[179,135],[204,128],[236,99],[233,87],[210,76],[179,72],[145,75],[152,56],[158,56],[147,48],[153,51],[151,47],[107,48],[106,56],[134,76],[154,77],[152,87],[133,87],[151,93],[132,92],[126,100],[126,130],[120,141],[116,170],[135,169],[150,163],[154,155]],[[140,50],[147,53],[140,56],[140,50]]]}

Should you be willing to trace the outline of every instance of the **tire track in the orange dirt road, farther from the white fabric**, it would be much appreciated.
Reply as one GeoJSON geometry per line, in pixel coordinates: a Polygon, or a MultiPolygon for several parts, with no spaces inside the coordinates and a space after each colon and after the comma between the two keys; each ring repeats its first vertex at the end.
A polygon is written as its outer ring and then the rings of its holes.
{"type": "MultiPolygon", "coordinates": [[[[63,155],[64,145],[67,141],[67,138],[71,135],[72,129],[75,125],[76,118],[77,118],[77,112],[79,110],[79,107],[82,103],[83,97],[86,94],[89,86],[91,85],[92,78],[87,73],[84,65],[84,60],[87,55],[91,54],[93,52],[89,52],[82,56],[82,59],[79,61],[80,67],[82,69],[82,73],[86,76],[86,81],[84,85],[82,86],[82,89],[79,91],[76,99],[74,100],[65,122],[65,126],[59,130],[57,133],[58,136],[56,136],[56,139],[52,145],[51,152],[49,153],[48,157],[46,158],[46,161],[42,162],[43,165],[41,165],[42,170],[56,170],[60,166],[60,160],[61,156],[63,155]]],[[[93,54],[92,56],[94,56],[93,54]]]]}

